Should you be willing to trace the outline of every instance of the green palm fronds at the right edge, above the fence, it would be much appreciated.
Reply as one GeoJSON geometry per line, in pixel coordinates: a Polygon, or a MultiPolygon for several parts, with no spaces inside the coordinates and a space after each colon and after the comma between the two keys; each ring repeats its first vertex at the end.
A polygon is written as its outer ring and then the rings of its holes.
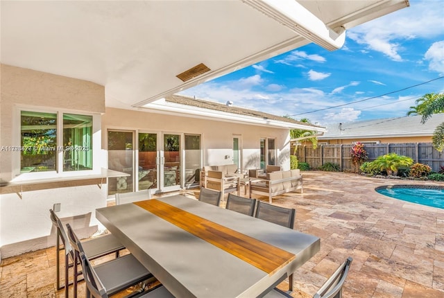
{"type": "MultiPolygon", "coordinates": [[[[444,112],[444,93],[425,94],[416,100],[416,106],[410,107],[407,115],[418,114],[422,115],[421,123],[425,123],[432,117],[432,114],[439,114],[444,112]]],[[[439,152],[444,150],[444,123],[441,123],[435,128],[432,136],[432,143],[439,152]]]]}

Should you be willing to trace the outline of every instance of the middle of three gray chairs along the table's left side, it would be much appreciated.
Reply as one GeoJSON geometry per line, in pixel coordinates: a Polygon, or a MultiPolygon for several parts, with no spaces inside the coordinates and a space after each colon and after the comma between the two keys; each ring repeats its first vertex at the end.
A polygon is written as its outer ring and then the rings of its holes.
{"type": "MultiPolygon", "coordinates": [[[[83,278],[87,285],[87,298],[108,297],[138,283],[153,279],[153,274],[137,261],[133,254],[126,254],[93,267],[85,254],[83,243],[69,224],[67,224],[67,230],[69,244],[74,251],[74,259],[80,261],[82,265],[83,278]]],[[[75,266],[74,272],[76,271],[75,266]]]]}

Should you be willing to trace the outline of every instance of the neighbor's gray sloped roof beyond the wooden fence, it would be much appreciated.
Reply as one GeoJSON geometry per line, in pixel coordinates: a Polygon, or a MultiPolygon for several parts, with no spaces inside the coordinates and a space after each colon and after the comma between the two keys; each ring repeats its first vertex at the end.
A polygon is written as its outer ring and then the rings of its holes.
{"type": "Polygon", "coordinates": [[[381,137],[432,136],[436,126],[444,122],[444,114],[434,114],[424,124],[422,116],[403,116],[347,123],[327,124],[327,132],[319,140],[381,137]]]}

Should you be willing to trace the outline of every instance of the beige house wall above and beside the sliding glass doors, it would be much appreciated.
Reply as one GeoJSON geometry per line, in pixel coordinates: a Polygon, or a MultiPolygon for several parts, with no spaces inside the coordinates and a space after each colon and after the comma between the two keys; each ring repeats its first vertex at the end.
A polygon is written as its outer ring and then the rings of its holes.
{"type": "Polygon", "coordinates": [[[149,112],[149,110],[142,112],[111,107],[107,107],[102,116],[102,129],[102,148],[104,149],[107,148],[106,131],[109,129],[201,134],[203,166],[232,164],[232,139],[234,135],[237,135],[241,139],[242,167],[259,168],[260,139],[275,139],[277,164],[285,170],[290,168],[289,130],[287,129],[157,114],[149,112]]]}

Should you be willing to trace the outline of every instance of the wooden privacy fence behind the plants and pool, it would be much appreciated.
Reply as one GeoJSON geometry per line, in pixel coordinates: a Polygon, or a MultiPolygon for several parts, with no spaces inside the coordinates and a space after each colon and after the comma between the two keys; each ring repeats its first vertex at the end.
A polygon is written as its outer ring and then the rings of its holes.
{"type": "MultiPolygon", "coordinates": [[[[352,164],[350,150],[353,144],[320,145],[313,149],[312,146],[298,146],[296,157],[299,162],[306,162],[310,168],[320,168],[330,162],[338,164],[341,170],[355,170],[352,164]]],[[[364,144],[367,152],[367,161],[373,161],[381,155],[396,153],[411,157],[413,162],[428,164],[434,172],[439,172],[444,166],[444,152],[438,152],[432,143],[379,143],[364,144]]],[[[294,148],[291,149],[294,152],[294,148]]]]}

